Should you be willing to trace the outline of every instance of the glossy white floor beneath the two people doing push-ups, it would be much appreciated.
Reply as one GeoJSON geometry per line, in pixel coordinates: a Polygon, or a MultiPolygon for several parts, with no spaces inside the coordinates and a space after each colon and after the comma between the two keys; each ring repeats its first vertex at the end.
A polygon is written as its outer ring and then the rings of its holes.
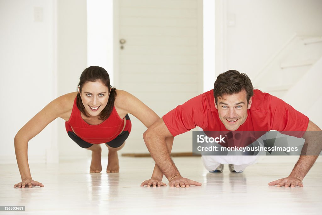
{"type": "MultiPolygon", "coordinates": [[[[90,160],[31,164],[33,179],[44,187],[13,188],[20,180],[14,164],[0,165],[0,205],[26,206],[0,214],[321,214],[322,163],[304,187],[268,186],[285,177],[294,163],[258,163],[243,173],[209,173],[200,157],[174,161],[184,177],[201,187],[140,187],[151,176],[151,158],[120,157],[120,173],[88,173],[90,160]]],[[[107,160],[103,159],[103,169],[107,160]]],[[[166,179],[164,180],[168,182],[166,179]]]]}

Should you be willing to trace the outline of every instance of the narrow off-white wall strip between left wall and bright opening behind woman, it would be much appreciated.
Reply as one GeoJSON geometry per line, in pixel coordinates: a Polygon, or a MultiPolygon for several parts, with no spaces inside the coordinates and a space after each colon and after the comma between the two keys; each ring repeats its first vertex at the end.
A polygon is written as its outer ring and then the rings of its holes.
{"type": "MultiPolygon", "coordinates": [[[[58,95],[77,90],[81,72],[87,67],[86,0],[58,0],[58,95]]],[[[60,159],[86,158],[84,150],[73,142],[58,121],[60,159]]]]}

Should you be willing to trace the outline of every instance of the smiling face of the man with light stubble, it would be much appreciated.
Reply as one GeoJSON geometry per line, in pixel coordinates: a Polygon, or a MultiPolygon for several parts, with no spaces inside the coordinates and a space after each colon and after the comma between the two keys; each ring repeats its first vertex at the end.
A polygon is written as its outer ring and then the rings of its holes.
{"type": "Polygon", "coordinates": [[[251,108],[251,98],[247,105],[247,94],[245,90],[231,95],[224,94],[221,99],[217,97],[215,107],[219,118],[229,131],[236,131],[247,119],[247,110],[251,108]]]}

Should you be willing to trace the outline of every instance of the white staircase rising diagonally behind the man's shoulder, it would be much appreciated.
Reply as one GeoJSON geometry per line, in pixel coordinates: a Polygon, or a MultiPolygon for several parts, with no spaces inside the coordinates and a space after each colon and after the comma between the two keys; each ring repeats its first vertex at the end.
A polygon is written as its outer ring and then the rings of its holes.
{"type": "Polygon", "coordinates": [[[254,88],[283,99],[321,57],[321,35],[294,34],[252,80],[254,88]]]}

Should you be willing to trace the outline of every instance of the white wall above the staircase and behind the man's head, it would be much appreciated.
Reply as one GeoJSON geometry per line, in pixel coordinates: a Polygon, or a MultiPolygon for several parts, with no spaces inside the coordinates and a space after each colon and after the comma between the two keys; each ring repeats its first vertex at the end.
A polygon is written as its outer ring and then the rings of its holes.
{"type": "Polygon", "coordinates": [[[252,79],[295,33],[322,34],[320,0],[218,0],[215,7],[217,74],[235,69],[252,79]]]}

